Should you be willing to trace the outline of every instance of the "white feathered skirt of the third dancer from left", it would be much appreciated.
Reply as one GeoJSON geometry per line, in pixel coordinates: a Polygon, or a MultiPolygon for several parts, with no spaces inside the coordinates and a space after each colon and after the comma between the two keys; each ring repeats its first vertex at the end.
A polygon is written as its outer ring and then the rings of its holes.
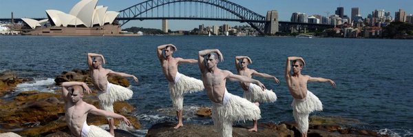
{"type": "Polygon", "coordinates": [[[175,83],[169,83],[169,93],[171,94],[172,105],[177,110],[184,107],[184,94],[200,92],[204,90],[204,84],[201,80],[185,76],[176,72],[175,83]]]}

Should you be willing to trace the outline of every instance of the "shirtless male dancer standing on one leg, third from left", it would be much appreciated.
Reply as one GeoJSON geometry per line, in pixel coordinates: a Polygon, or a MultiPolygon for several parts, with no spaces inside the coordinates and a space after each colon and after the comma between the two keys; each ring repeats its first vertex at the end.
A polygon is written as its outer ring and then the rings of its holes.
{"type": "Polygon", "coordinates": [[[178,129],[179,127],[184,126],[182,123],[184,94],[187,92],[202,91],[204,85],[199,79],[191,78],[178,72],[178,65],[180,63],[198,63],[198,61],[195,59],[174,58],[172,54],[173,52],[176,52],[176,50],[176,46],[172,44],[159,45],[158,48],[156,48],[162,72],[169,82],[168,87],[169,93],[171,94],[172,105],[176,108],[176,116],[178,117],[178,125],[173,128],[178,129]],[[162,50],[165,52],[165,55],[162,54],[162,50]]]}

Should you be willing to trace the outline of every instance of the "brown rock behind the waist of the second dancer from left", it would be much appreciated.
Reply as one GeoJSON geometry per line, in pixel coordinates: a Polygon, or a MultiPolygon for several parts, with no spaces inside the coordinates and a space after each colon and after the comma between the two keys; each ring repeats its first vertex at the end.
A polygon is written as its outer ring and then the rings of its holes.
{"type": "MultiPolygon", "coordinates": [[[[54,79],[56,85],[61,85],[61,83],[66,81],[80,81],[92,85],[92,78],[90,78],[89,70],[74,69],[70,72],[62,72],[61,75],[56,76],[54,79]]],[[[122,85],[123,87],[129,87],[130,85],[127,78],[120,76],[109,76],[107,81],[116,85],[122,85]]]]}

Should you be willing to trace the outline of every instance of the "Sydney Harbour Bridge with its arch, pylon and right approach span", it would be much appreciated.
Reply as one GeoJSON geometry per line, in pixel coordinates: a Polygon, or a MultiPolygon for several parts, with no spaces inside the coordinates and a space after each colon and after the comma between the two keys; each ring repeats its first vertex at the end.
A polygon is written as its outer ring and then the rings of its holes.
{"type": "MultiPolygon", "coordinates": [[[[271,10],[266,16],[226,0],[148,0],[120,10],[116,20],[125,25],[132,20],[207,20],[248,23],[260,34],[275,34],[288,28],[326,29],[333,25],[278,21],[278,12],[271,10]]],[[[36,19],[36,18],[34,18],[36,19]]],[[[39,19],[40,20],[40,19],[39,19]]],[[[11,21],[11,19],[0,19],[11,21]]],[[[21,19],[14,19],[19,22],[21,19]]]]}

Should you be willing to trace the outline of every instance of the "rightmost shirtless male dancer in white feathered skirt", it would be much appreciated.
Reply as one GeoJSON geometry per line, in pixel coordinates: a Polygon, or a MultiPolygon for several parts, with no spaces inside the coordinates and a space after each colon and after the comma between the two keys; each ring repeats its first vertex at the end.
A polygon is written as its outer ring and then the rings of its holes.
{"type": "Polygon", "coordinates": [[[335,82],[328,78],[316,78],[301,74],[301,70],[306,65],[306,62],[301,57],[290,56],[286,63],[286,82],[291,96],[293,96],[293,115],[297,122],[298,130],[301,132],[301,137],[307,136],[308,131],[308,115],[314,111],[322,111],[323,105],[317,96],[307,89],[307,82],[329,82],[332,87],[335,87],[335,82]],[[293,65],[291,65],[293,61],[293,65]],[[290,73],[293,67],[293,74],[290,73]]]}

